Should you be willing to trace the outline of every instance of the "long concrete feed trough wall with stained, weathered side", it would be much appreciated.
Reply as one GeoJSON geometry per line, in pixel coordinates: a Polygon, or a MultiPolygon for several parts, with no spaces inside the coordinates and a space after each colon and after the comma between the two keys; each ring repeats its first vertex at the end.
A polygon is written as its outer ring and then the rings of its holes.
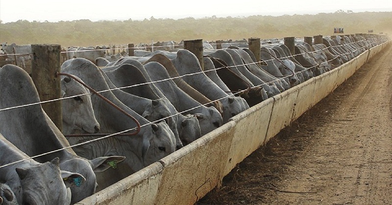
{"type": "Polygon", "coordinates": [[[387,43],[314,77],[232,118],[179,151],[99,191],[78,205],[189,204],[214,187],[236,164],[335,90],[387,43]]]}

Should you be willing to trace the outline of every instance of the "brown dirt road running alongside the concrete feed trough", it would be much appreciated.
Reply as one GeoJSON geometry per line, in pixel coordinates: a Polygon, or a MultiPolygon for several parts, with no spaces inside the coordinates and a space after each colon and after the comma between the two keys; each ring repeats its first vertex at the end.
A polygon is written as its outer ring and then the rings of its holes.
{"type": "Polygon", "coordinates": [[[197,205],[392,205],[392,47],[197,205]]]}

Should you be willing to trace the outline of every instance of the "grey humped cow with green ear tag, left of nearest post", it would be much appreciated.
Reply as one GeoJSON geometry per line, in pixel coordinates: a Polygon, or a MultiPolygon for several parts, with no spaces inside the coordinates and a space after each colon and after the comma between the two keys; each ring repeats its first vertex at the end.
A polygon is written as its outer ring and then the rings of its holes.
{"type": "MultiPolygon", "coordinates": [[[[20,67],[5,65],[0,69],[0,109],[17,105],[39,103],[38,92],[31,77],[20,67]]],[[[71,99],[73,100],[73,99],[71,99]]],[[[80,113],[67,111],[75,118],[80,113]]],[[[52,152],[69,147],[70,144],[60,130],[49,119],[40,104],[0,111],[0,133],[29,156],[52,152]]],[[[114,155],[114,154],[113,154],[114,155]]],[[[36,158],[39,162],[60,158],[60,168],[80,173],[86,183],[72,187],[72,202],[76,203],[92,195],[97,186],[96,174],[121,162],[123,156],[102,156],[86,159],[75,154],[72,149],[61,150],[36,158]]]]}

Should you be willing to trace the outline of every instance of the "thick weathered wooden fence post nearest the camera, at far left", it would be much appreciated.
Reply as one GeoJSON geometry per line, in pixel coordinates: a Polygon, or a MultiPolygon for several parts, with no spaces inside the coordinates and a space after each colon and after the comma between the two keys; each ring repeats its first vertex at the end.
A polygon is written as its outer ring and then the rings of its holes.
{"type": "MultiPolygon", "coordinates": [[[[37,88],[41,102],[61,98],[60,45],[31,45],[31,78],[37,88]]],[[[62,102],[41,104],[53,123],[63,131],[62,102]]]]}

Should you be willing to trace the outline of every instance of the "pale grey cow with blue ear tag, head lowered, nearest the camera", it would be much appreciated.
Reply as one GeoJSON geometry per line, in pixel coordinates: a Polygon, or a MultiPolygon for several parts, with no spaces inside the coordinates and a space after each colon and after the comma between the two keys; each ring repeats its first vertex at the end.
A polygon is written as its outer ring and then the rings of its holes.
{"type": "Polygon", "coordinates": [[[0,134],[0,181],[15,193],[19,204],[69,205],[71,192],[67,188],[80,186],[86,179],[76,173],[61,171],[59,158],[39,163],[20,151],[0,134]],[[26,159],[26,160],[23,160],[26,159]],[[10,162],[23,160],[8,165],[10,162]]]}

